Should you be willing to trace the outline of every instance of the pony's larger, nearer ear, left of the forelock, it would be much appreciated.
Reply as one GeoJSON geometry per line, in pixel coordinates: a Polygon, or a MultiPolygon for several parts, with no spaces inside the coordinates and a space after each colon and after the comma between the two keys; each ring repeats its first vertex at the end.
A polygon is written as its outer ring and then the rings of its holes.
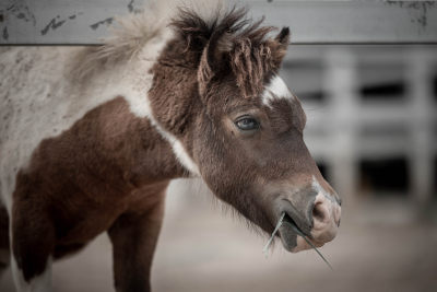
{"type": "Polygon", "coordinates": [[[226,55],[233,49],[231,34],[214,32],[203,48],[198,69],[199,92],[203,96],[208,84],[225,66],[226,55]]]}

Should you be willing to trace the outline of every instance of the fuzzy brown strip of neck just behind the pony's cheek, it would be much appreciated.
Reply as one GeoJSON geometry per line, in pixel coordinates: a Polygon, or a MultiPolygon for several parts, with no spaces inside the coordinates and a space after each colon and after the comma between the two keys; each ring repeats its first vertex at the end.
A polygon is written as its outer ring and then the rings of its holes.
{"type": "Polygon", "coordinates": [[[170,136],[174,155],[191,174],[198,174],[192,161],[196,118],[202,112],[197,81],[197,60],[178,40],[164,48],[152,68],[153,84],[149,101],[153,119],[164,138],[170,136]],[[177,143],[175,145],[175,143],[177,143]]]}

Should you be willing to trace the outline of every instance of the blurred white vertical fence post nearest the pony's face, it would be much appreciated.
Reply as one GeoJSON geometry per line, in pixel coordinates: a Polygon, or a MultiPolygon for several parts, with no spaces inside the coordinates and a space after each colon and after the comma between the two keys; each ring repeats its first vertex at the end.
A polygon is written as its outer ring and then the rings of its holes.
{"type": "Polygon", "coordinates": [[[328,94],[331,124],[332,184],[345,205],[356,199],[357,165],[355,132],[358,96],[356,60],[351,50],[331,48],[324,56],[323,87],[328,94]]]}

